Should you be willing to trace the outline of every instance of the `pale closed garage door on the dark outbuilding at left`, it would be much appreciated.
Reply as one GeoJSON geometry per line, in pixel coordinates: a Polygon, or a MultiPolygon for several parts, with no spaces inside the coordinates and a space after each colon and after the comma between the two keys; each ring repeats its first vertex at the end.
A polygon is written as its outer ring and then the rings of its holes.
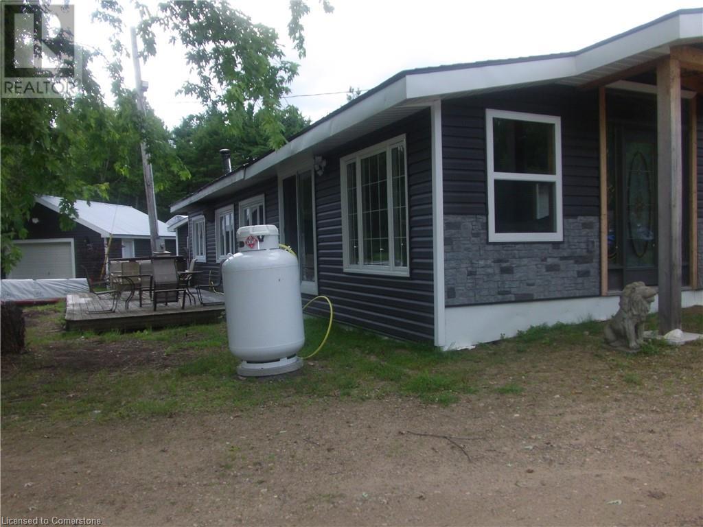
{"type": "Polygon", "coordinates": [[[8,278],[75,278],[70,240],[16,243],[22,249],[22,260],[8,278]]]}

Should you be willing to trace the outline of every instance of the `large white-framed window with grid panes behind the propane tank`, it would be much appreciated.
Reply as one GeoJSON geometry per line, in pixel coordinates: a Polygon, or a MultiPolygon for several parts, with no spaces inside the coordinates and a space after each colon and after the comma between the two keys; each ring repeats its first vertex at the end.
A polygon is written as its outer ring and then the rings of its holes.
{"type": "Polygon", "coordinates": [[[409,276],[405,136],[341,160],[344,271],[409,276]]]}

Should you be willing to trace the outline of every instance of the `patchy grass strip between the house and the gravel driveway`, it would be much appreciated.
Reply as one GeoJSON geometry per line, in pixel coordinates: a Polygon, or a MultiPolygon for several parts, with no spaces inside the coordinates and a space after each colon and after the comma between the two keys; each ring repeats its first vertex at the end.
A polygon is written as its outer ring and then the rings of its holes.
{"type": "MultiPolygon", "coordinates": [[[[335,325],[328,344],[297,375],[240,379],[238,360],[228,351],[224,323],[131,333],[58,332],[60,306],[31,310],[27,318],[30,353],[11,358],[11,367],[6,367],[4,358],[0,389],[4,426],[37,420],[93,422],[246,410],[324,398],[364,401],[404,396],[451,405],[466,396],[520,395],[525,386],[535,396],[580,392],[584,385],[612,385],[614,378],[621,379],[616,384],[622,390],[646,384],[669,386],[666,389],[671,391],[702,384],[703,368],[690,363],[700,363],[703,345],[674,352],[662,341],[647,341],[641,353],[628,355],[605,346],[602,323],[592,320],[531,327],[514,339],[453,353],[335,325]],[[58,365],[53,362],[57,350],[63,357],[58,365]],[[86,370],[65,363],[70,358],[67,350],[79,350],[93,359],[111,351],[136,350],[143,355],[138,356],[136,367],[98,363],[102,370],[86,370]],[[657,382],[650,382],[652,372],[659,375],[657,382]],[[671,379],[676,382],[667,384],[671,379]]],[[[689,325],[703,322],[702,318],[697,313],[684,315],[689,325]]],[[[327,330],[327,320],[321,318],[306,318],[304,324],[306,344],[301,356],[312,353],[327,330]]]]}

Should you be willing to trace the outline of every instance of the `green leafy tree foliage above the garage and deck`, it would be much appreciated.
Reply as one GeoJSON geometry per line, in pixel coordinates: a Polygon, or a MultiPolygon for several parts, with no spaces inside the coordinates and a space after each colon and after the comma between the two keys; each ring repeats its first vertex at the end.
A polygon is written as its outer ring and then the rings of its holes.
{"type": "MultiPolygon", "coordinates": [[[[42,1],[48,4],[49,0],[42,1]]],[[[321,0],[321,4],[325,11],[332,10],[327,0],[321,0]]],[[[84,78],[77,98],[0,101],[4,271],[18,259],[12,240],[26,235],[24,225],[35,195],[62,197],[61,223],[65,229],[72,227],[77,199],[101,198],[143,206],[136,199],[143,195],[138,149],[141,141],[146,141],[155,189],[160,197],[166,197],[162,206],[167,207],[167,196],[177,199],[219,174],[213,167],[213,163],[219,165],[217,153],[203,155],[207,137],[214,134],[217,126],[227,131],[212,137],[221,141],[215,146],[231,148],[233,161],[239,163],[280,147],[287,134],[307,124],[297,110],[280,105],[297,74],[297,65],[284,59],[278,35],[271,28],[254,24],[224,0],[170,1],[159,4],[154,13],[138,0],[127,5],[141,15],[137,30],[143,59],[156,55],[157,32],[166,32],[172,42],[180,41],[186,46],[185,60],[197,80],[186,83],[181,91],[197,96],[209,110],[200,117],[186,119],[175,136],[150,110],[146,116],[137,112],[134,92],[124,86],[122,64],[129,58],[121,36],[125,4],[98,0],[94,20],[114,30],[108,72],[115,104],[105,104],[90,73],[94,54],[84,50],[84,78]],[[202,131],[198,130],[200,126],[202,131]],[[183,149],[185,163],[176,155],[176,145],[183,149]],[[196,176],[191,185],[183,183],[189,177],[188,169],[196,176]]],[[[304,0],[291,0],[290,11],[289,34],[302,56],[301,20],[309,7],[304,0]]],[[[70,41],[70,36],[66,38],[70,41]]],[[[209,143],[209,147],[213,144],[209,143]]]]}

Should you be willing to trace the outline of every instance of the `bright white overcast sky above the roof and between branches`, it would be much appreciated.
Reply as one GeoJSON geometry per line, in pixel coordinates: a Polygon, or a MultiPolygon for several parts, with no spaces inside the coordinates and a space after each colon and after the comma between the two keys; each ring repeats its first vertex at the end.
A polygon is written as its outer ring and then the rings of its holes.
{"type": "MultiPolygon", "coordinates": [[[[274,27],[288,59],[300,64],[286,100],[313,121],[346,102],[349,86],[373,88],[401,70],[575,51],[702,0],[591,0],[588,2],[508,0],[331,0],[326,14],[309,0],[304,18],[307,57],[297,57],[288,39],[288,0],[231,0],[254,22],[274,27]],[[318,95],[321,93],[333,95],[318,95]]],[[[127,7],[129,4],[124,0],[127,7]]],[[[76,39],[107,48],[104,28],[89,22],[93,2],[75,2],[76,39]]],[[[127,20],[134,20],[127,14],[127,20]]],[[[129,46],[129,33],[124,35],[129,46]]],[[[98,67],[93,68],[99,70],[98,67]]],[[[96,71],[98,73],[98,71],[96,71]]],[[[194,100],[176,96],[188,77],[182,50],[165,41],[156,59],[142,66],[149,82],[146,97],[169,127],[201,110],[194,100]]],[[[131,62],[125,65],[134,86],[131,62]]],[[[109,83],[105,76],[105,92],[109,83]]]]}

